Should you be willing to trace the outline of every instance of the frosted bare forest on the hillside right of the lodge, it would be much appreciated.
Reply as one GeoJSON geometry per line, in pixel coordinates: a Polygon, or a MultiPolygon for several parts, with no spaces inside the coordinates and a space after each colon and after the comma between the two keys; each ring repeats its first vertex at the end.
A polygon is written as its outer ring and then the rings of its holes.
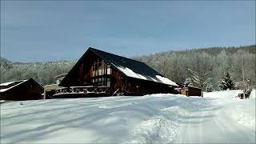
{"type": "MultiPolygon", "coordinates": [[[[249,80],[251,85],[255,85],[255,57],[255,46],[240,46],[167,51],[135,59],[145,62],[160,74],[178,83],[184,83],[186,78],[191,78],[193,75],[190,70],[193,70],[199,75],[206,75],[205,81],[210,80],[203,86],[205,90],[206,86],[219,90],[218,81],[226,73],[231,75],[234,82],[241,84],[244,71],[244,78],[249,80]]],[[[197,83],[194,83],[194,86],[197,86],[197,83]]]]}

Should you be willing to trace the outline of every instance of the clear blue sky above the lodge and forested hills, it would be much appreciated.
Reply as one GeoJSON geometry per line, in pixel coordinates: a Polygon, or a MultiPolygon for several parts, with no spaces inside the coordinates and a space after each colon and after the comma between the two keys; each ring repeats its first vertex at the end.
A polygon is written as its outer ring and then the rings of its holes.
{"type": "Polygon", "coordinates": [[[1,56],[13,62],[251,44],[255,1],[1,1],[1,56]]]}

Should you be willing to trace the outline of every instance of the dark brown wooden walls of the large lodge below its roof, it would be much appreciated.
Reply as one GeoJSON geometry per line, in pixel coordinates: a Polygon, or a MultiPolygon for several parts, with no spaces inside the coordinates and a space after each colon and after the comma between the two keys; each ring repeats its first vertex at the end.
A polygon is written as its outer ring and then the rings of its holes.
{"type": "Polygon", "coordinates": [[[107,86],[109,79],[111,94],[116,90],[125,95],[174,93],[174,88],[166,84],[124,76],[91,51],[79,61],[78,66],[74,66],[72,73],[66,75],[62,86],[107,86]]]}

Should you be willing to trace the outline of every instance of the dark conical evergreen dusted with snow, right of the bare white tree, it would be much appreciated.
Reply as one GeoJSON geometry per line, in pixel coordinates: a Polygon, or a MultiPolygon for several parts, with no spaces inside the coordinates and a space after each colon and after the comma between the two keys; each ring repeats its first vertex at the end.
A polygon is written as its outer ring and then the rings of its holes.
{"type": "Polygon", "coordinates": [[[234,81],[230,77],[230,74],[227,72],[224,77],[222,77],[218,82],[218,87],[221,90],[233,90],[234,89],[234,81]]]}

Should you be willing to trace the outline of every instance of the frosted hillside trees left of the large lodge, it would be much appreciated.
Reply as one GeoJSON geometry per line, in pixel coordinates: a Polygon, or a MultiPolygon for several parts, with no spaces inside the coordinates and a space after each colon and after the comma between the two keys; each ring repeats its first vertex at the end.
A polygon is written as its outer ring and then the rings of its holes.
{"type": "Polygon", "coordinates": [[[44,85],[55,82],[54,76],[68,73],[76,61],[12,63],[1,58],[1,83],[34,78],[44,85]]]}

